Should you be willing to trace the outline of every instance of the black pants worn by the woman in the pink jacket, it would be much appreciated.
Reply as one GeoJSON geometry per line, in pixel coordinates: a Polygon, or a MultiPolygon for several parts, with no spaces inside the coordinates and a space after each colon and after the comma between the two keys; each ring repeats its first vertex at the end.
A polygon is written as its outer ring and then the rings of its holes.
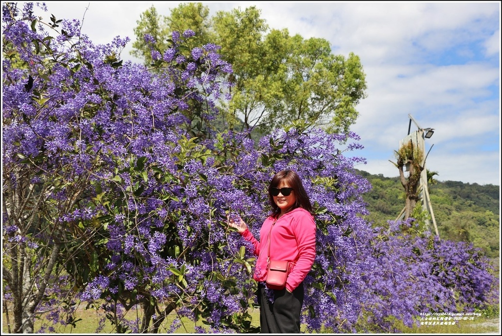
{"type": "Polygon", "coordinates": [[[265,286],[258,285],[261,333],[300,333],[303,282],[290,293],[285,289],[274,290],[274,302],[267,298],[265,286]]]}

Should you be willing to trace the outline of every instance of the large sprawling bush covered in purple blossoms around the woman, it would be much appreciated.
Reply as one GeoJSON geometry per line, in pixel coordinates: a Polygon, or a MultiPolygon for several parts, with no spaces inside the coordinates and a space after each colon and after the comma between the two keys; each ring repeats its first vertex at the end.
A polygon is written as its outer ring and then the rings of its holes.
{"type": "Polygon", "coordinates": [[[254,256],[225,221],[238,214],[258,236],[268,182],[286,168],[316,211],[308,331],[396,331],[396,319],[498,302],[489,263],[471,246],[363,219],[371,186],[353,167],[364,159],[343,155],[361,148],[357,135],[296,122],[256,146],[216,132],[228,93],[219,78],[231,71],[217,46],[189,47],[193,32],[174,32],[149,70],[119,59],[127,40],[94,46],[78,23],[54,17],[53,38],[25,6],[19,18],[3,4],[4,298],[15,306],[26,299],[13,287],[25,253],[30,281],[43,284],[26,312],[57,307],[46,315],[55,324],[75,322],[78,298],[117,332],[174,332],[170,314],[207,323],[197,332],[258,332],[254,256]],[[142,319],[124,318],[133,307],[142,319]]]}

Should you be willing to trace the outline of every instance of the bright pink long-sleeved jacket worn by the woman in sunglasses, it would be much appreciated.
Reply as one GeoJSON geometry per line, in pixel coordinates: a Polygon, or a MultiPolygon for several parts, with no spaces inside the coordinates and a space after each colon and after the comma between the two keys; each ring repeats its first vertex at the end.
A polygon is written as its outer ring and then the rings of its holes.
{"type": "Polygon", "coordinates": [[[260,241],[249,230],[242,237],[253,243],[255,255],[258,256],[254,279],[265,281],[267,277],[267,253],[270,232],[270,259],[295,262],[286,282],[286,288],[292,292],[310,272],[315,259],[316,226],[314,217],[303,208],[293,209],[282,215],[274,223],[272,217],[263,222],[260,229],[260,241]]]}

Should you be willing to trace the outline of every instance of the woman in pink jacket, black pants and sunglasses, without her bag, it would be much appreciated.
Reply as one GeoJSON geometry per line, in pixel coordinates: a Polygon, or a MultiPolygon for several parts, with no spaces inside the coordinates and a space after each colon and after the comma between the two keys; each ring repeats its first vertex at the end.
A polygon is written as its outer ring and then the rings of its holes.
{"type": "Polygon", "coordinates": [[[229,220],[228,225],[253,244],[253,252],[258,256],[254,279],[258,282],[261,333],[300,333],[303,280],[315,259],[316,226],[312,205],[293,170],[274,175],[269,185],[269,201],[272,213],[263,222],[260,241],[242,219],[239,223],[229,220]],[[271,260],[294,262],[286,288],[282,290],[265,288],[269,239],[271,260]],[[273,291],[273,302],[268,298],[268,291],[273,291]]]}

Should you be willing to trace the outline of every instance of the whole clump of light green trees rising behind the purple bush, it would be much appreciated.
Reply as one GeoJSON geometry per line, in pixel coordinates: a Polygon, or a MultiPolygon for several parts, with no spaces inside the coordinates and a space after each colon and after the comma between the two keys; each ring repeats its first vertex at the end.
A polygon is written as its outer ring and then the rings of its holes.
{"type": "Polygon", "coordinates": [[[160,17],[151,8],[138,21],[133,45],[134,55],[147,63],[147,45],[138,41],[143,41],[149,27],[160,41],[170,31],[191,29],[202,44],[221,46],[220,53],[233,68],[226,78],[234,84],[232,98],[221,105],[230,129],[237,125],[254,130],[258,138],[303,120],[328,132],[347,133],[358,117],[355,106],[366,89],[359,57],[333,55],[325,39],[304,40],[290,36],[287,29],[269,30],[256,7],[219,11],[210,19],[200,3],[180,4],[169,17],[160,17]]]}

